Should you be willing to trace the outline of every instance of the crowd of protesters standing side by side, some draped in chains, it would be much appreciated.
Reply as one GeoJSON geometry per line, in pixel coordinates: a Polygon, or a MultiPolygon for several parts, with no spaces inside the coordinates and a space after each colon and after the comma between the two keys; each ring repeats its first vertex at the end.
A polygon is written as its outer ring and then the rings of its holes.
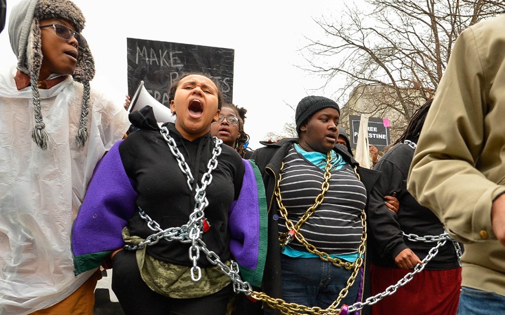
{"type": "Polygon", "coordinates": [[[21,1],[0,76],[0,314],[93,314],[101,268],[124,314],[505,313],[504,20],[462,32],[368,169],[324,96],[298,103],[298,137],[256,150],[208,73],[172,82],[175,122],[128,113],[89,85],[80,9],[21,1]]]}

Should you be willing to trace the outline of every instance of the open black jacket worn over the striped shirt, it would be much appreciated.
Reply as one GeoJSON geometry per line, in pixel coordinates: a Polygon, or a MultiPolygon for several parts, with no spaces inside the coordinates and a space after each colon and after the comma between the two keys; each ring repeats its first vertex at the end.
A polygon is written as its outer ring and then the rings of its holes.
{"type": "MultiPolygon", "coordinates": [[[[282,160],[287,155],[289,148],[293,143],[298,143],[298,139],[282,139],[276,143],[269,143],[264,148],[259,148],[254,151],[251,160],[256,162],[263,176],[265,191],[268,203],[268,220],[269,220],[269,243],[267,250],[267,262],[265,264],[265,272],[263,274],[262,290],[273,298],[282,299],[282,281],[280,270],[280,247],[278,242],[278,205],[273,194],[276,188],[276,183],[279,178],[280,167],[282,160]]],[[[344,161],[350,165],[357,166],[357,173],[360,176],[361,182],[365,185],[367,195],[370,194],[372,186],[379,178],[379,172],[368,170],[359,167],[359,163],[349,154],[344,145],[335,145],[335,152],[340,154],[344,161]]],[[[367,200],[368,204],[368,200],[367,200]]],[[[289,301],[287,301],[289,302],[289,301]]],[[[265,314],[278,314],[268,306],[264,307],[265,314]]]]}

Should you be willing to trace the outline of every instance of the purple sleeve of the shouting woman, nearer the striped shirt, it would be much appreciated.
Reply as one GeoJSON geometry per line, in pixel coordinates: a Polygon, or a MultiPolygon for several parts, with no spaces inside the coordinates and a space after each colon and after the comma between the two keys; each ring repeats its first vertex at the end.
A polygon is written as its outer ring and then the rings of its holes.
{"type": "Polygon", "coordinates": [[[258,187],[251,164],[244,161],[244,166],[245,174],[240,196],[229,210],[228,226],[232,235],[229,249],[238,264],[255,270],[260,250],[258,187]]]}

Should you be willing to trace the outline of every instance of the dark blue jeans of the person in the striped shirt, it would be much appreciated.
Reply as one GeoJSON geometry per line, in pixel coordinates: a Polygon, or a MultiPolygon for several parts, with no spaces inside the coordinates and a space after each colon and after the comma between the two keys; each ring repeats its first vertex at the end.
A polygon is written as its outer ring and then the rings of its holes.
{"type": "MultiPolygon", "coordinates": [[[[282,254],[280,256],[282,299],[287,303],[325,309],[337,299],[352,273],[352,270],[333,266],[319,258],[293,258],[282,254]]],[[[359,282],[358,272],[355,282],[339,307],[355,303],[359,282]]]]}

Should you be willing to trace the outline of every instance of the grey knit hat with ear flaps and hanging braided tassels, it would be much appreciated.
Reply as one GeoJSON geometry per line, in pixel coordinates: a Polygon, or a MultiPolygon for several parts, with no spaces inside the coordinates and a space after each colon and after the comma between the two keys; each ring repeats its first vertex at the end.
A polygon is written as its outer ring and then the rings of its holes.
{"type": "MultiPolygon", "coordinates": [[[[30,75],[30,84],[32,86],[36,122],[32,132],[32,139],[40,148],[46,150],[48,137],[44,130],[45,124],[43,123],[37,84],[43,60],[39,23],[42,19],[67,21],[74,26],[78,33],[82,32],[86,20],[81,10],[69,0],[24,0],[14,6],[10,14],[10,44],[18,58],[18,69],[30,75]]],[[[78,147],[82,147],[88,139],[86,126],[89,109],[89,81],[95,76],[95,62],[89,47],[84,49],[79,47],[78,51],[76,69],[72,77],[84,86],[80,126],[76,135],[78,147]]]]}

